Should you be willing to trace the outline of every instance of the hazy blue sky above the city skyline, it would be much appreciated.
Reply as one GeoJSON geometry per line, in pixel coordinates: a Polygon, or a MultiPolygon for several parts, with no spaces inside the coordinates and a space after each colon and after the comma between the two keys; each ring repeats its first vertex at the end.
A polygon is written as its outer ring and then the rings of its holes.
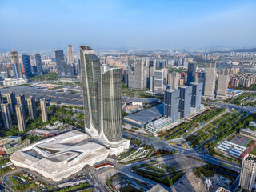
{"type": "Polygon", "coordinates": [[[0,48],[256,47],[254,0],[0,0],[0,48]]]}

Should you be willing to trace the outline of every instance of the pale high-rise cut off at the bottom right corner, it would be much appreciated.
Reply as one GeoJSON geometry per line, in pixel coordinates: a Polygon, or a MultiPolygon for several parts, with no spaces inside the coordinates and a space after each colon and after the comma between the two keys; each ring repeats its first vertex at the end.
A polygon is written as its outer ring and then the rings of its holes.
{"type": "Polygon", "coordinates": [[[239,186],[244,190],[251,191],[256,178],[256,156],[246,154],[242,158],[242,170],[240,174],[239,186]]]}

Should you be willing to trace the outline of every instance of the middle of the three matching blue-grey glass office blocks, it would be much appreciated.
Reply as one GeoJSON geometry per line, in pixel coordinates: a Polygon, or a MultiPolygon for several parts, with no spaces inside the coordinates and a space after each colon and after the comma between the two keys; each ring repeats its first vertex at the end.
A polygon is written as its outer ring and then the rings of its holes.
{"type": "Polygon", "coordinates": [[[180,100],[179,100],[179,112],[181,118],[186,118],[190,114],[191,98],[192,98],[192,86],[179,86],[180,100]]]}

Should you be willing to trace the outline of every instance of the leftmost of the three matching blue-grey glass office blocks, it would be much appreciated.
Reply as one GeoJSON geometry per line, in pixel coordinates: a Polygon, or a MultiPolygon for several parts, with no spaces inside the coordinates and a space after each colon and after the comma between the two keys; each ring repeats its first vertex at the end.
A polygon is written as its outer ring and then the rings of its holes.
{"type": "Polygon", "coordinates": [[[180,90],[165,90],[165,117],[171,118],[172,122],[178,120],[179,94],[180,90]]]}

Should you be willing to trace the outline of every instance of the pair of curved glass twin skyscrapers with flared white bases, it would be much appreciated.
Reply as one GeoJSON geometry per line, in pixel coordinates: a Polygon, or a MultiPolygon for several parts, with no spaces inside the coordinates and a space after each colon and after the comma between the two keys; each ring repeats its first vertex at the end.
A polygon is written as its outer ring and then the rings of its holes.
{"type": "Polygon", "coordinates": [[[122,139],[120,70],[101,75],[99,58],[89,46],[80,46],[80,58],[86,133],[118,154],[129,146],[122,139]]]}

